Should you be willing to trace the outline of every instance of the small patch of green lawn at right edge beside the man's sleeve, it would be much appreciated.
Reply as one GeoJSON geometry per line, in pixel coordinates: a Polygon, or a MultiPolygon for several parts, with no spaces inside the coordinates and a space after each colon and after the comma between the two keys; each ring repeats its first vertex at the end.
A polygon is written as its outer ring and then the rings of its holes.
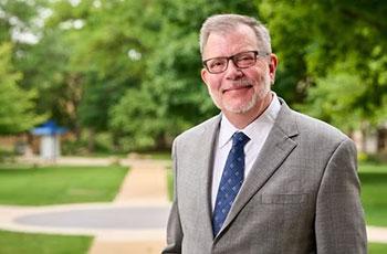
{"type": "Polygon", "coordinates": [[[362,163],[359,178],[367,224],[387,226],[387,165],[362,163]]]}

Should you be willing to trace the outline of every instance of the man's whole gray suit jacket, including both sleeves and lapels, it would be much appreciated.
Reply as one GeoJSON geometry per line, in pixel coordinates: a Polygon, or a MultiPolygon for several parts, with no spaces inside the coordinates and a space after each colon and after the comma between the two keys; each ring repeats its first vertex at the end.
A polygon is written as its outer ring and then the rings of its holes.
{"type": "Polygon", "coordinates": [[[281,110],[220,233],[211,227],[216,116],[176,138],[175,199],[163,253],[366,253],[354,144],[332,126],[281,110]]]}

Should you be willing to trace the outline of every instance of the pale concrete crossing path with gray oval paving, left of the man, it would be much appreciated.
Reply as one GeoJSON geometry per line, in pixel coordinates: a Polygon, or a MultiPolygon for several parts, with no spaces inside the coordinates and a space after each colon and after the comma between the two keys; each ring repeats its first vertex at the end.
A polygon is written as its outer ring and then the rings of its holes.
{"type": "Polygon", "coordinates": [[[169,204],[145,202],[0,205],[0,227],[30,233],[147,240],[164,235],[168,210],[169,204]]]}

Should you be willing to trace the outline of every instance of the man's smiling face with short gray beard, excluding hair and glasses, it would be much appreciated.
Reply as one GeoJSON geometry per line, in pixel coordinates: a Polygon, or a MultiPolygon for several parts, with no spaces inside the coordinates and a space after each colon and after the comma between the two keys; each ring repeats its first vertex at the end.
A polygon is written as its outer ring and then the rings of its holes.
{"type": "MultiPolygon", "coordinates": [[[[231,56],[247,51],[262,51],[251,28],[240,25],[228,33],[211,33],[203,49],[203,60],[231,56]]],[[[274,82],[276,56],[258,56],[248,68],[238,68],[229,61],[228,68],[211,74],[206,68],[201,77],[213,103],[224,114],[248,114],[265,108],[270,103],[270,85],[274,82]],[[268,105],[265,105],[268,104],[268,105]]]]}

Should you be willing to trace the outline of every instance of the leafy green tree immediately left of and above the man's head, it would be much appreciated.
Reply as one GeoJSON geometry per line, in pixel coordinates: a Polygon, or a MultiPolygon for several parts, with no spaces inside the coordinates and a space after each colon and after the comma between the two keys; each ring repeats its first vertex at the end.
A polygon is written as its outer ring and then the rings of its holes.
{"type": "Polygon", "coordinates": [[[200,80],[198,35],[205,19],[221,12],[255,15],[257,7],[247,0],[155,1],[149,13],[157,25],[140,35],[150,39],[144,82],[111,112],[112,127],[126,136],[122,140],[166,148],[177,134],[217,114],[200,80]]]}

